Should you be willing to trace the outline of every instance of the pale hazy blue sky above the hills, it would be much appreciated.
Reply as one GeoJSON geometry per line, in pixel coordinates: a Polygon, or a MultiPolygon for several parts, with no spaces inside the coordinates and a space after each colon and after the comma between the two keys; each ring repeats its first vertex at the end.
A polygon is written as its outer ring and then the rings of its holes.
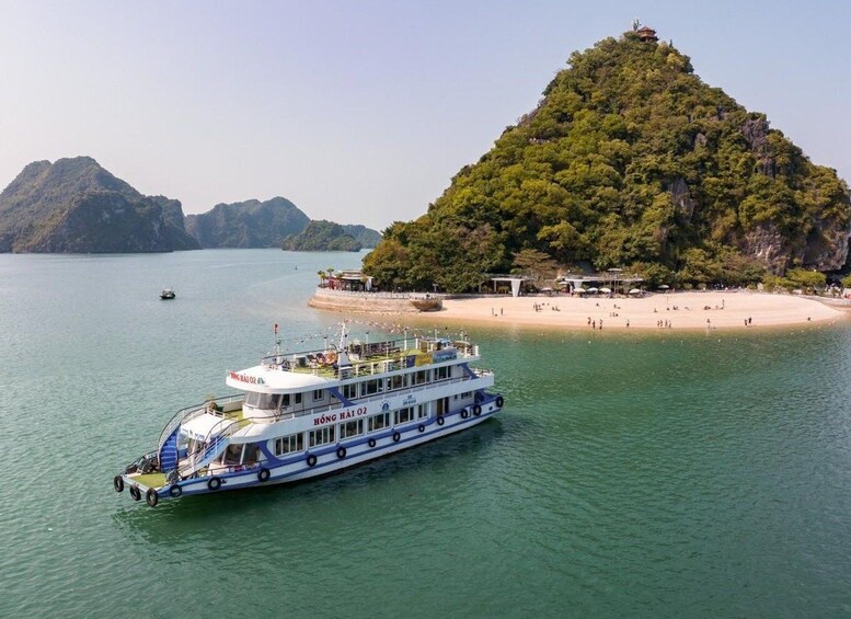
{"type": "Polygon", "coordinates": [[[283,195],[382,229],[633,18],[851,181],[851,2],[0,0],[0,186],[89,154],[184,213],[283,195]]]}

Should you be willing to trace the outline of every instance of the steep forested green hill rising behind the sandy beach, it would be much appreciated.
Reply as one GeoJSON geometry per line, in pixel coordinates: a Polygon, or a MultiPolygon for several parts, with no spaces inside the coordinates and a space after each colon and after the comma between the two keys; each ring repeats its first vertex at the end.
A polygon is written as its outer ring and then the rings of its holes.
{"type": "Polygon", "coordinates": [[[851,202],[836,171],[640,32],[574,53],[426,215],[384,231],[365,271],[462,291],[524,250],[680,285],[841,268],[851,202]]]}

